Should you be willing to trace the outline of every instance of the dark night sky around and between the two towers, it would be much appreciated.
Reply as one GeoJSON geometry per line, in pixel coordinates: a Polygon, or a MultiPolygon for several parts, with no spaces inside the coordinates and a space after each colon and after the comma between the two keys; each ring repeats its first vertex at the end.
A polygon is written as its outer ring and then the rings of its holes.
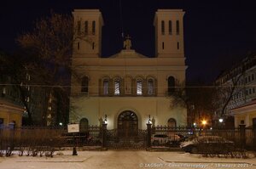
{"type": "Polygon", "coordinates": [[[50,10],[71,14],[73,8],[102,11],[104,56],[122,48],[121,27],[131,35],[133,49],[154,56],[154,12],[157,8],[183,8],[188,80],[209,82],[256,48],[253,0],[8,0],[0,4],[0,49],[13,52],[15,38],[31,31],[33,22],[49,15],[50,10]]]}

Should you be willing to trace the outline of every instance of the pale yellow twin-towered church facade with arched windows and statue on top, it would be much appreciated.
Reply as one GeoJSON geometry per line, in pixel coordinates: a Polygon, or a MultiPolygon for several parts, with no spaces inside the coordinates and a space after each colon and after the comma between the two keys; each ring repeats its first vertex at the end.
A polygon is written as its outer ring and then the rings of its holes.
{"type": "MultiPolygon", "coordinates": [[[[154,16],[155,57],[124,49],[102,57],[102,14],[98,9],[75,9],[74,30],[83,38],[73,43],[73,76],[69,122],[134,131],[154,125],[186,126],[187,110],[172,105],[177,82],[185,81],[183,10],[158,9],[154,16]]],[[[152,35],[154,36],[154,35],[152,35]]]]}

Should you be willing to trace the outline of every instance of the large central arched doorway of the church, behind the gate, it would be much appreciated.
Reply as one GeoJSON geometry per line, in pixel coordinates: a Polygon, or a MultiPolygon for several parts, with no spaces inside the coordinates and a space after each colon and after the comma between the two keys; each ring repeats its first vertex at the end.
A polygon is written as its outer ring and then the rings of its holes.
{"type": "Polygon", "coordinates": [[[137,136],[138,119],[137,115],[131,110],[125,110],[118,117],[119,137],[137,136]]]}

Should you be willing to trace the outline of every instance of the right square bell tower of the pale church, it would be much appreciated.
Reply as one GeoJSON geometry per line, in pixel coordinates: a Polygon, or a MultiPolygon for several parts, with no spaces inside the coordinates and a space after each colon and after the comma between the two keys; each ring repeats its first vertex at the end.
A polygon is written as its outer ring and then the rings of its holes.
{"type": "Polygon", "coordinates": [[[155,56],[184,57],[182,9],[158,9],[154,15],[155,56]]]}

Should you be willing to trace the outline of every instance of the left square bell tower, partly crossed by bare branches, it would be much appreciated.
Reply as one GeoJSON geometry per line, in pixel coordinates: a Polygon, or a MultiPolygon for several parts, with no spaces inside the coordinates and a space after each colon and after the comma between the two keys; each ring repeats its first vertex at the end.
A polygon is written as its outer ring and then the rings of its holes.
{"type": "Polygon", "coordinates": [[[73,57],[101,57],[102,25],[102,13],[99,9],[74,9],[73,57]]]}

